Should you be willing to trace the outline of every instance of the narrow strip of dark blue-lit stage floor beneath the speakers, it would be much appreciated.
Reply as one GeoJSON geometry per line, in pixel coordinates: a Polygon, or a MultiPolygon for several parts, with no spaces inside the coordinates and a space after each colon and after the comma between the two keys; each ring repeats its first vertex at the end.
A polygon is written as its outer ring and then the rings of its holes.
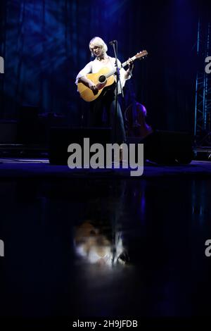
{"type": "MultiPolygon", "coordinates": [[[[68,165],[51,165],[47,158],[0,158],[0,178],[9,177],[132,177],[131,168],[70,169],[68,165]]],[[[192,177],[211,176],[211,161],[192,161],[187,165],[158,165],[145,162],[143,175],[149,177],[192,177]]],[[[132,177],[136,178],[137,177],[132,177]]]]}

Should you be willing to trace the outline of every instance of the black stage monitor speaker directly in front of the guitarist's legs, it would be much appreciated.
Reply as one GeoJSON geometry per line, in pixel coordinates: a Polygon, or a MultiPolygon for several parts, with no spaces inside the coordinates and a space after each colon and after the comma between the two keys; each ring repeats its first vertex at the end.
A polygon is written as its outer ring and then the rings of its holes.
{"type": "Polygon", "coordinates": [[[91,144],[111,143],[110,127],[51,127],[49,139],[49,162],[54,165],[68,165],[68,146],[84,145],[84,138],[91,144]]]}

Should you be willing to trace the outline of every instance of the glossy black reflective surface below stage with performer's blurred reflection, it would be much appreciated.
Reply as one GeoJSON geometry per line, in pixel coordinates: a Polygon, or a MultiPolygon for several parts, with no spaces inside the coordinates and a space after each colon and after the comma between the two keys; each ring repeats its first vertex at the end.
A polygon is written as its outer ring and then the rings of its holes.
{"type": "Polygon", "coordinates": [[[1,316],[210,316],[211,180],[13,178],[0,196],[1,316]]]}

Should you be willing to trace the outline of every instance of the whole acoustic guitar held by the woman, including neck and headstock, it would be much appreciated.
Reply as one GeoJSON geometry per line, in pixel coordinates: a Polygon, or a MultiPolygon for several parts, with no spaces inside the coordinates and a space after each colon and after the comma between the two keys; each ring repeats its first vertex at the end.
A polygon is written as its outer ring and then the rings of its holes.
{"type": "MultiPolygon", "coordinates": [[[[139,53],[137,53],[135,56],[132,57],[132,60],[134,61],[136,60],[136,58],[141,59],[143,58],[143,56],[146,56],[147,54],[148,54],[147,51],[140,51],[139,53]]],[[[122,63],[122,68],[127,64],[128,61],[122,63]]],[[[87,75],[87,78],[89,78],[89,80],[92,80],[92,82],[94,82],[94,84],[98,87],[98,91],[93,92],[91,89],[89,89],[89,87],[84,85],[84,83],[79,82],[77,85],[77,89],[82,99],[89,102],[97,99],[98,96],[103,91],[104,87],[113,85],[113,83],[115,82],[115,76],[114,76],[115,71],[116,69],[110,70],[109,68],[104,67],[101,70],[99,70],[98,73],[89,73],[87,75]]]]}

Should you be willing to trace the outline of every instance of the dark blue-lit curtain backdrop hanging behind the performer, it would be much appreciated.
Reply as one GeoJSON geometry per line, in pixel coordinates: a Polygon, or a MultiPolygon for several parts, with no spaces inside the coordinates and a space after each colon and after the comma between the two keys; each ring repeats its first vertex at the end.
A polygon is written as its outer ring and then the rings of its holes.
{"type": "MultiPolygon", "coordinates": [[[[125,61],[134,63],[125,87],[160,130],[191,130],[194,122],[198,18],[209,6],[199,1],[1,0],[0,118],[16,119],[20,106],[57,113],[68,125],[85,125],[89,103],[79,98],[75,76],[90,61],[89,41],[118,41],[125,61]]],[[[113,49],[108,46],[108,54],[113,49]]],[[[123,104],[124,105],[124,104],[123,104]]]]}

